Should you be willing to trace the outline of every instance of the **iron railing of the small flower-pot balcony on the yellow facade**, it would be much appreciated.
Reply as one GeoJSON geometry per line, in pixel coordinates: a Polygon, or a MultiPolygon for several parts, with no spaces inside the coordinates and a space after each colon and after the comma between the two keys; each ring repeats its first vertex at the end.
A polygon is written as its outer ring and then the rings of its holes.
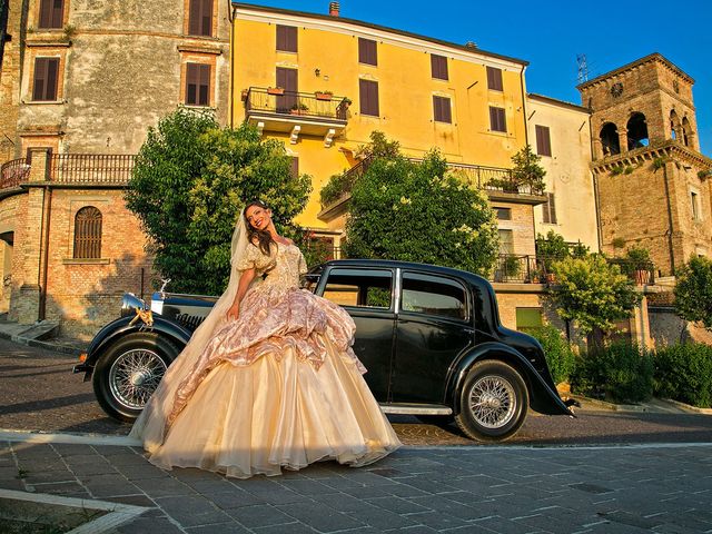
{"type": "Polygon", "coordinates": [[[281,91],[271,88],[250,87],[245,96],[245,109],[284,116],[306,116],[346,120],[350,100],[329,93],[281,91]]]}

